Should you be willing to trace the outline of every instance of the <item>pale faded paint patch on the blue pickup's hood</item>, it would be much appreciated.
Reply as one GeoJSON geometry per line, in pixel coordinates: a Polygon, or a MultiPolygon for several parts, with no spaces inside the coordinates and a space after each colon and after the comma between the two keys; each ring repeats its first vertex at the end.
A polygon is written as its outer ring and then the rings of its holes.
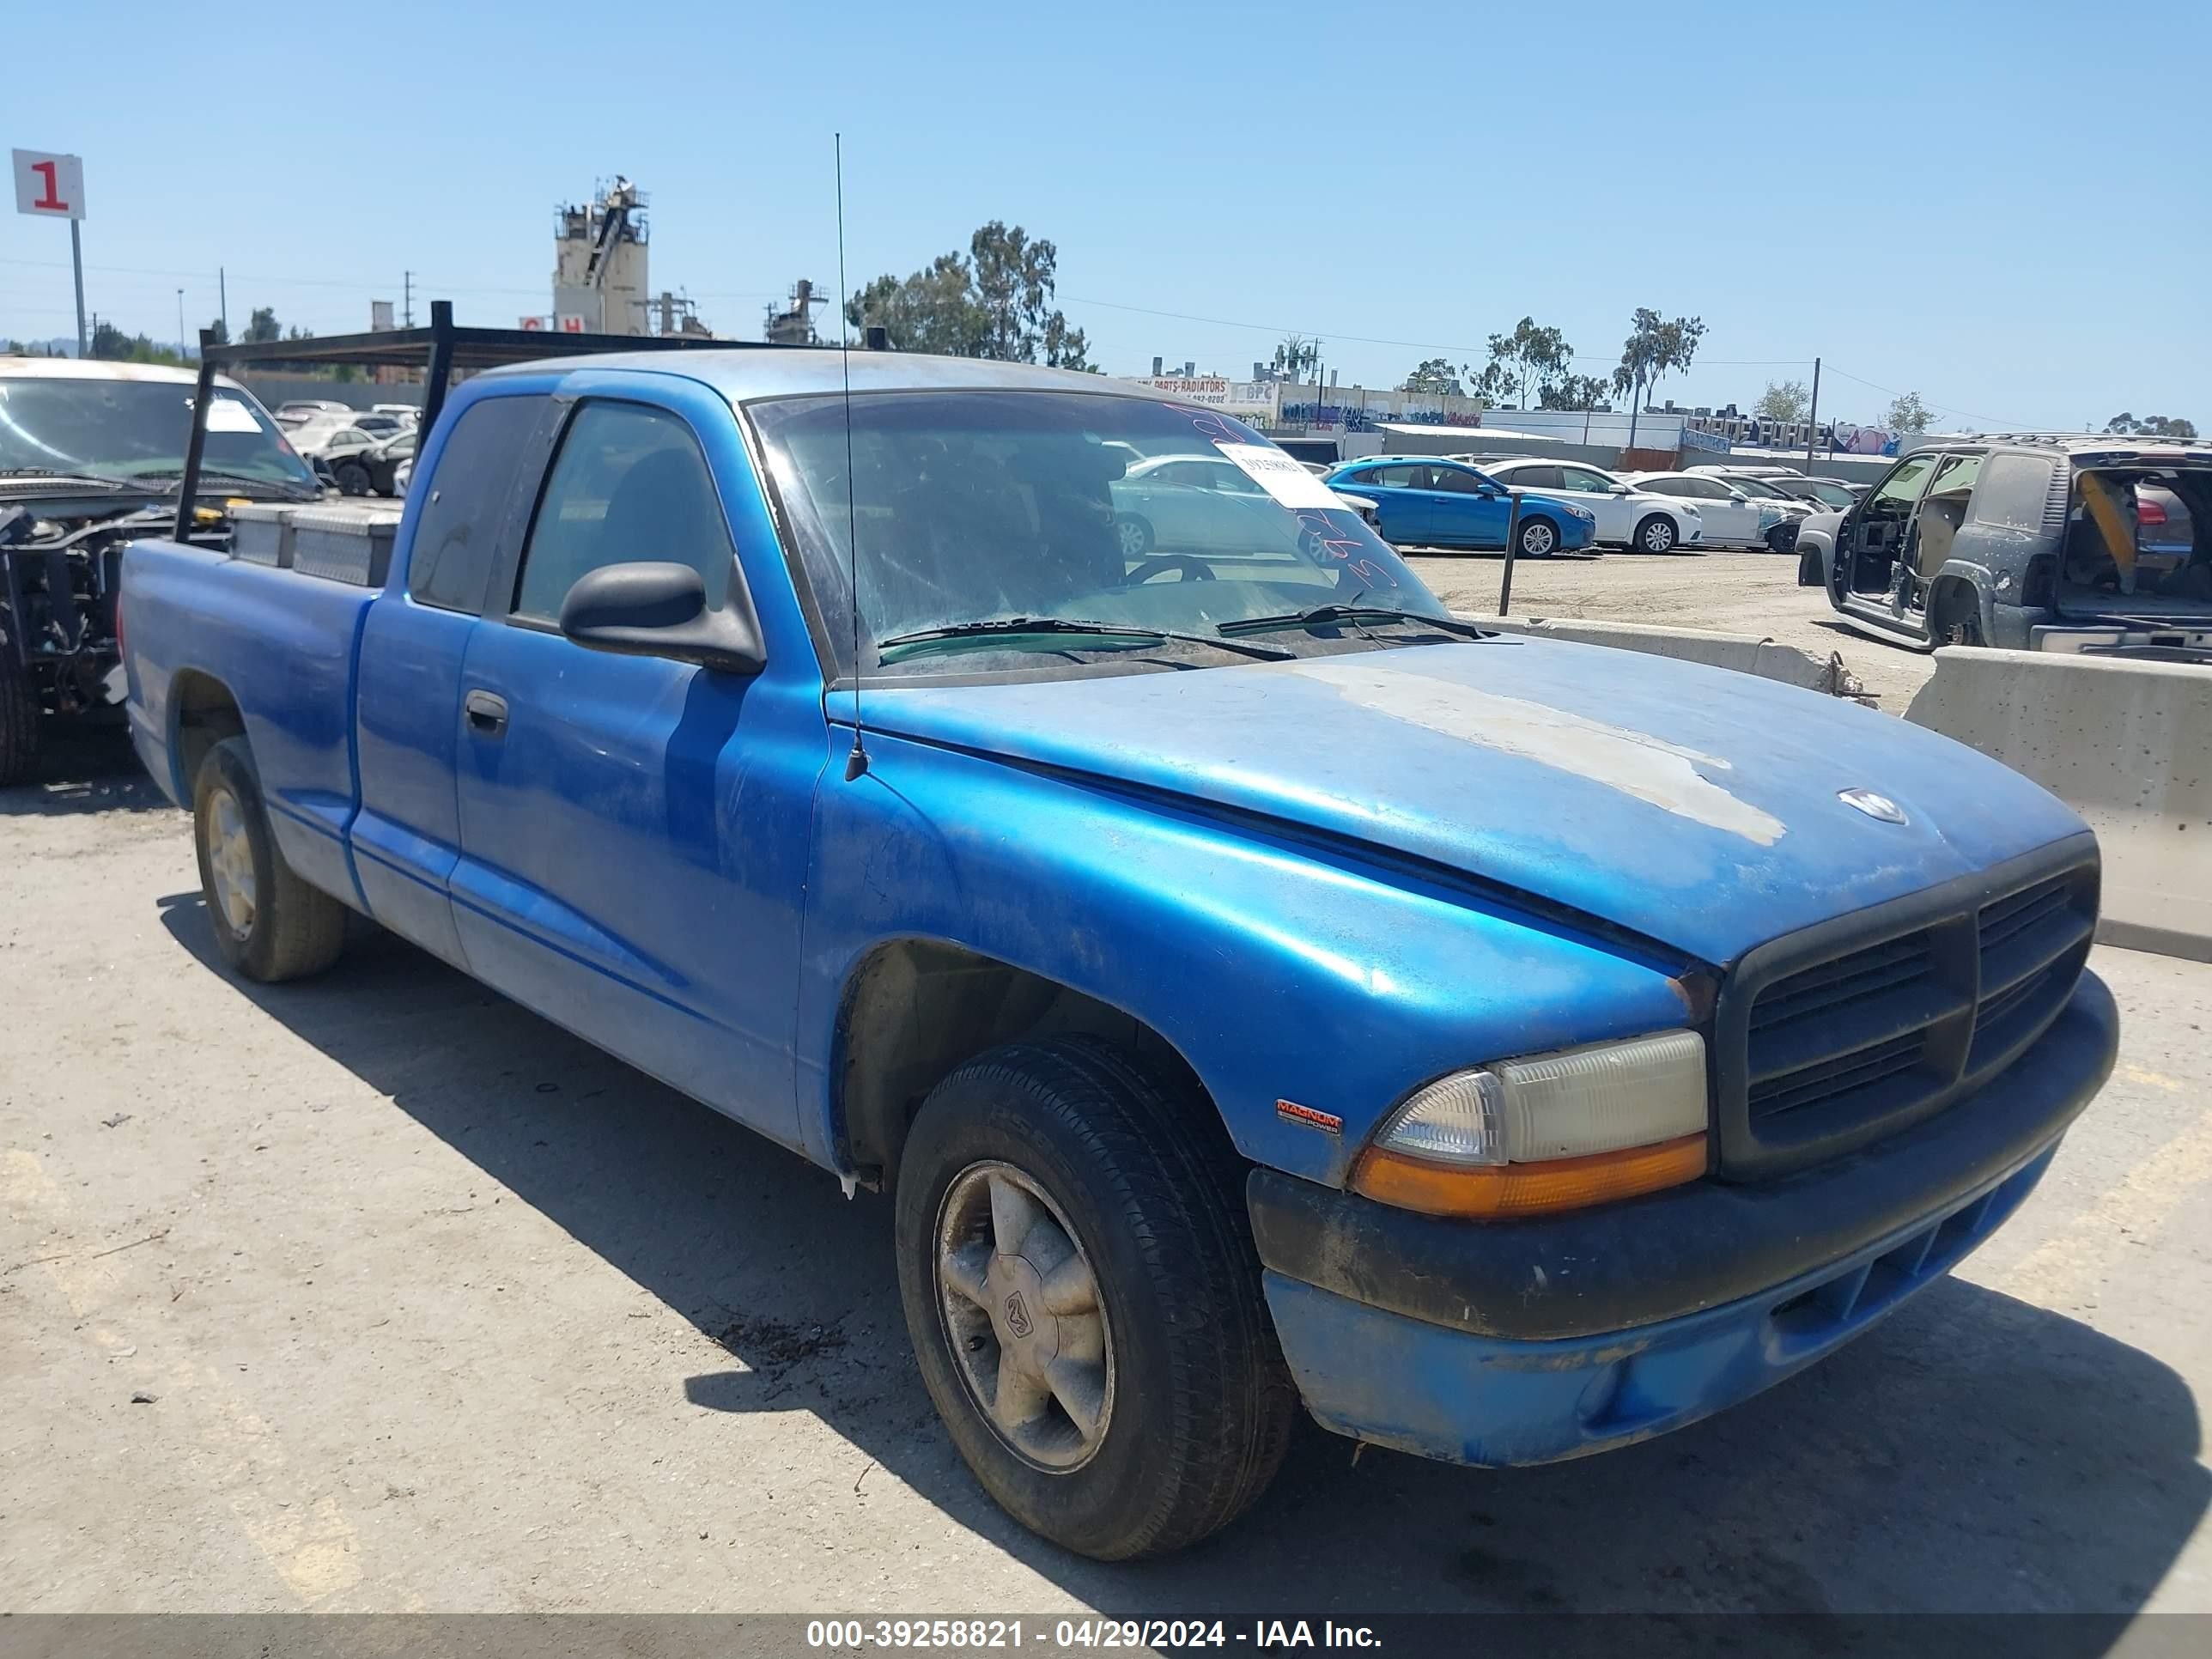
{"type": "Polygon", "coordinates": [[[1663,812],[1708,823],[1761,847],[1772,847],[1783,836],[1781,818],[1739,801],[1705,776],[1732,770],[1719,754],[1701,754],[1648,732],[1608,726],[1526,697],[1405,672],[1380,655],[1321,657],[1301,661],[1287,672],[1334,686],[1360,708],[1606,783],[1663,812]]]}

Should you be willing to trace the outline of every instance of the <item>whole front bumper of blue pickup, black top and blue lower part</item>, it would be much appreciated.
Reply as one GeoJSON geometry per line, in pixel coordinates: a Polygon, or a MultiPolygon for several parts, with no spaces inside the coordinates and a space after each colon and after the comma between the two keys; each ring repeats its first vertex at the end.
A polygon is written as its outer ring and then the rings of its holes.
{"type": "Polygon", "coordinates": [[[1391,1210],[1254,1170],[1267,1305],[1323,1427],[1447,1462],[1553,1462],[1745,1400],[1986,1239],[2112,1071],[2084,973],[1989,1088],[1798,1175],[1515,1223],[1391,1210]]]}

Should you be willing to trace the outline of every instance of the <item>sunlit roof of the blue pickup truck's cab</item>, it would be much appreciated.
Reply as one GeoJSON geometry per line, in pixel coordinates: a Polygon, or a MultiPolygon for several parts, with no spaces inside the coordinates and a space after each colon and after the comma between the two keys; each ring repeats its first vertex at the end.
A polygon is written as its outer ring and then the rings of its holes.
{"type": "MultiPolygon", "coordinates": [[[[973,356],[922,356],[914,352],[852,352],[854,392],[911,389],[1029,389],[1093,392],[1104,396],[1148,398],[1161,403],[1152,387],[1128,385],[1104,374],[1077,369],[1042,369],[1033,363],[993,363],[973,356]]],[[[546,369],[633,369],[639,374],[679,374],[703,380],[730,403],[787,398],[799,394],[843,392],[847,354],[836,347],[730,352],[593,352],[591,356],[544,358],[487,369],[480,378],[511,374],[544,374],[546,369]]]]}

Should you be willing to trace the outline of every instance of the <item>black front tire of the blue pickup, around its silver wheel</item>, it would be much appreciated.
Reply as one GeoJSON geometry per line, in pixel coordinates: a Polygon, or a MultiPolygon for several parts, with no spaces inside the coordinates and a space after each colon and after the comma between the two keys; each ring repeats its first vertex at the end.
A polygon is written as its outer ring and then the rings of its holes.
{"type": "MultiPolygon", "coordinates": [[[[1099,1040],[1022,1042],[940,1082],[900,1157],[898,1292],[929,1398],[1006,1513],[1106,1562],[1161,1555],[1228,1526],[1274,1478],[1298,1416],[1261,1294],[1245,1166],[1212,1113],[1194,1088],[1099,1040]],[[987,1170],[1022,1175],[1046,1199],[1060,1241],[1073,1239],[1088,1259],[1110,1380],[1097,1440],[1073,1467],[1018,1451],[967,1378],[964,1367],[998,1363],[1009,1334],[1033,1329],[1018,1323],[1024,1303],[1000,1305],[995,1292],[978,1325],[982,1303],[962,1303],[940,1276],[953,1199],[987,1170]],[[956,1321],[971,1334],[956,1338],[956,1321]]],[[[982,1245],[971,1237],[956,1254],[982,1245]]],[[[1029,1254],[982,1250],[993,1274],[1029,1254]]],[[[1042,1283],[1037,1312],[1051,1316],[1042,1283]]],[[[1091,1316],[1055,1316],[1053,1352],[1077,1318],[1091,1316]]],[[[1060,1409],[1042,1396],[1035,1422],[1060,1409]]]]}

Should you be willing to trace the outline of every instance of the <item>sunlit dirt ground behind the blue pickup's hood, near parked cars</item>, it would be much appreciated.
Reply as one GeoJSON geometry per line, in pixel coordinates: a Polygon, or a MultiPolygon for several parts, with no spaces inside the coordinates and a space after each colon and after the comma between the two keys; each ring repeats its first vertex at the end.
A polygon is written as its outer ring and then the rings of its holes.
{"type": "MultiPolygon", "coordinates": [[[[1498,611],[1502,555],[1413,555],[1411,564],[1455,611],[1498,611]]],[[[1840,653],[1845,668],[1891,714],[1902,714],[1936,670],[1931,657],[1845,624],[1818,588],[1796,584],[1796,557],[1778,553],[1515,560],[1513,615],[1719,628],[1763,635],[1823,659],[1840,653]]]]}

